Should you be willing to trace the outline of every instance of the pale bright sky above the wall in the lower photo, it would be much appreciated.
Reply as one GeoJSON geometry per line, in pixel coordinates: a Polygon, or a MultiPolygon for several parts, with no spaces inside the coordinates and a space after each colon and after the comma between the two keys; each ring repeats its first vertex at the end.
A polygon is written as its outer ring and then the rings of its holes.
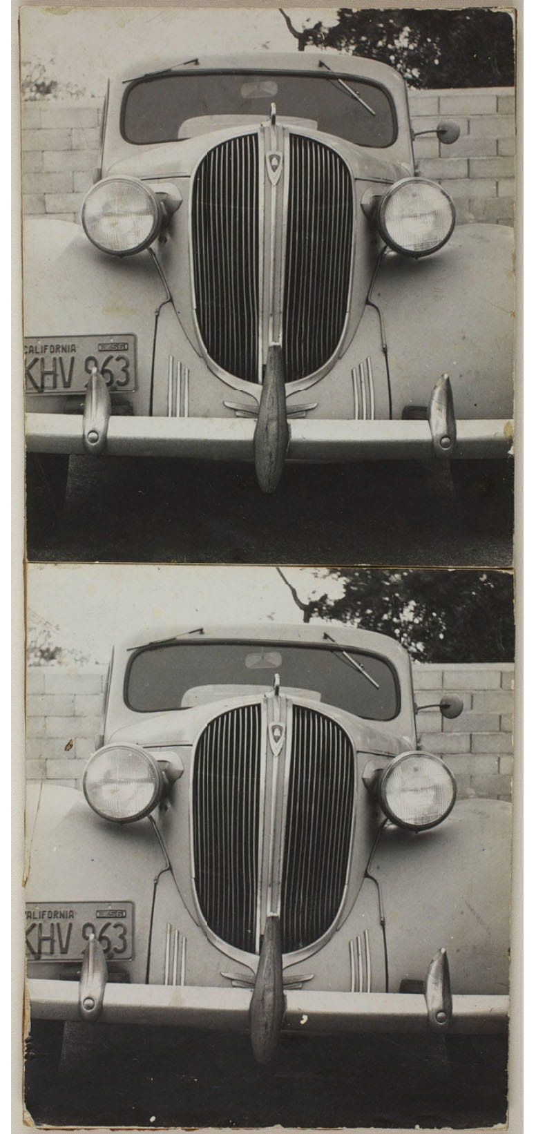
{"type": "MultiPolygon", "coordinates": [[[[309,568],[284,568],[301,599],[337,595],[341,585],[309,568]]],[[[129,627],[177,631],[203,625],[301,623],[301,611],[274,567],[182,567],[146,565],[29,564],[28,636],[41,619],[53,642],[93,661],[129,627]]]]}

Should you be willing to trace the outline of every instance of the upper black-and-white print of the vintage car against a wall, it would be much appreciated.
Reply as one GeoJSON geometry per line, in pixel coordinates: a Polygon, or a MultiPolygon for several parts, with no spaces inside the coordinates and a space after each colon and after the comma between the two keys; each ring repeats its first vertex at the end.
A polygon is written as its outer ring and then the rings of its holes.
{"type": "Polygon", "coordinates": [[[31,560],[511,566],[514,42],[22,8],[31,560]]]}

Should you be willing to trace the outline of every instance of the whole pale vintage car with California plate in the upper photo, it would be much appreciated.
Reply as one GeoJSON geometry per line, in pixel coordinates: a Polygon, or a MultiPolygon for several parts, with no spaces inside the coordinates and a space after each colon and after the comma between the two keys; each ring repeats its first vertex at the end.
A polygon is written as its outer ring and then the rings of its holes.
{"type": "Polygon", "coordinates": [[[265,492],[286,460],[503,480],[512,232],[454,228],[414,136],[369,59],[126,66],[82,227],[25,226],[29,489],[60,509],[84,452],[253,462],[265,492]]]}

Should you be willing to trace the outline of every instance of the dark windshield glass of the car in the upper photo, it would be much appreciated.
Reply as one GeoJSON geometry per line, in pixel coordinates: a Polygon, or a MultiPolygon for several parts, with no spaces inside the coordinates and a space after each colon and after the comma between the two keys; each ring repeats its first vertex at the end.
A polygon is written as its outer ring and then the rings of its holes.
{"type": "MultiPolygon", "coordinates": [[[[137,79],[124,99],[121,132],[136,145],[177,142],[270,116],[298,119],[357,145],[392,145],[394,108],[384,87],[334,73],[193,73],[137,79]],[[356,98],[357,96],[357,98],[356,98]]],[[[304,122],[303,122],[304,124],[304,122]]]]}

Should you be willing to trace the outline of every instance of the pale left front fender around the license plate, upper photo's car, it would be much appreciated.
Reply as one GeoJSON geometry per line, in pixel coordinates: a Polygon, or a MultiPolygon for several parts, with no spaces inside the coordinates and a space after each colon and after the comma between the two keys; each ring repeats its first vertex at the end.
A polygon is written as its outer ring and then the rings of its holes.
{"type": "MultiPolygon", "coordinates": [[[[27,221],[24,333],[29,337],[135,335],[135,414],[148,414],[155,311],[167,290],[148,251],[110,256],[71,221],[27,221]]],[[[29,412],[62,412],[69,398],[28,396],[29,412]]]]}

